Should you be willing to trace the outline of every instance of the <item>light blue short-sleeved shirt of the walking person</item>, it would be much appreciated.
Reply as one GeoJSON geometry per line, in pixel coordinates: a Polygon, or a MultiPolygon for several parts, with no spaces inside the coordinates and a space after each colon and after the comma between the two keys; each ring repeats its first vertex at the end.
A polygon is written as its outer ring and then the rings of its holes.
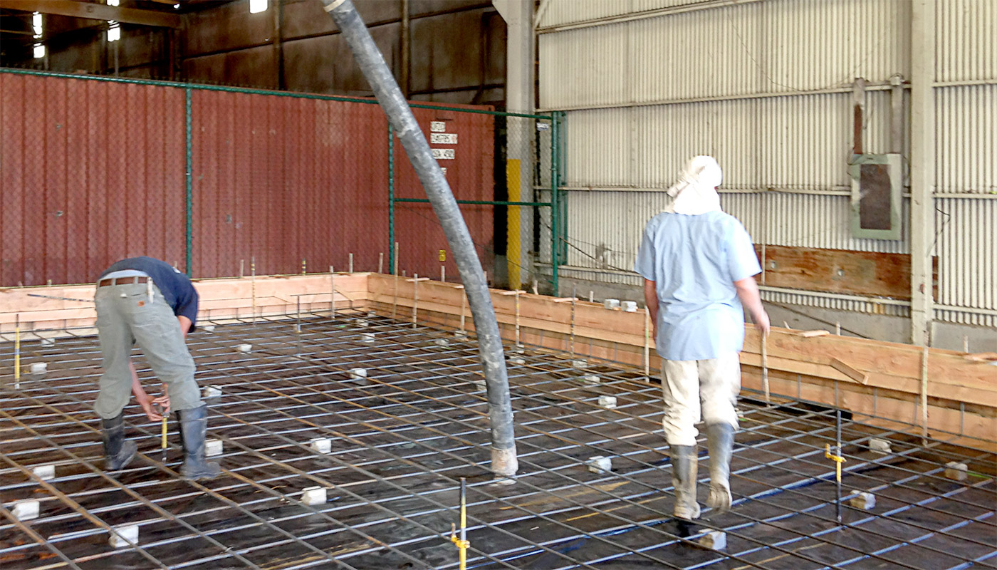
{"type": "Polygon", "coordinates": [[[647,223],[633,270],[658,292],[658,354],[717,358],[744,347],[744,308],[734,282],[762,272],[751,237],[723,212],[663,213],[647,223]]]}

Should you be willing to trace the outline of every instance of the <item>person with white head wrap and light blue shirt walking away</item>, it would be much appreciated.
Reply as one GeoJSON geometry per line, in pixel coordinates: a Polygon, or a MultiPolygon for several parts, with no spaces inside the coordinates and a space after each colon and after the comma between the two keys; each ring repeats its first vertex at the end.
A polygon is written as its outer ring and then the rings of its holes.
{"type": "Polygon", "coordinates": [[[713,157],[690,159],[668,190],[674,202],[648,222],[634,264],[644,277],[655,346],[663,358],[662,423],[672,460],[674,513],[687,520],[700,514],[695,424],[701,417],[710,452],[707,505],[718,513],[731,507],[743,306],[762,334],[770,330],[754,279],[762,268],[744,226],[720,209],[716,187],[722,179],[713,157]]]}

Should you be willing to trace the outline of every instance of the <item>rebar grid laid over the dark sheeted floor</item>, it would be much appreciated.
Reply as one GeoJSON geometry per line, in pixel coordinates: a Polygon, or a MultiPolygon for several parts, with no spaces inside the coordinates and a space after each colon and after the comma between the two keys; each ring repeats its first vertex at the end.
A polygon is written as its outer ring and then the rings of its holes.
{"type": "MultiPolygon", "coordinates": [[[[188,344],[209,402],[208,436],[223,441],[223,473],[203,483],[176,474],[171,426],[161,463],[158,425],[127,408],[140,458],[117,476],[101,464],[91,411],[100,374],[95,337],[56,346],[25,342],[44,376],[14,388],[0,376],[0,563],[4,568],[451,568],[447,536],[460,478],[469,479],[473,568],[997,568],[994,455],[955,448],[845,418],[843,488],[870,491],[870,511],[835,518],[834,469],[824,445],[834,410],[743,400],[732,464],[735,508],[697,521],[671,515],[670,464],[660,387],[633,370],[579,370],[568,354],[518,354],[509,366],[520,472],[514,484],[488,469],[488,406],[476,346],[445,331],[355,310],[218,325],[188,344]],[[300,324],[299,324],[300,322],[300,324]],[[374,333],[373,343],[361,341],[374,333]],[[235,350],[252,344],[248,354],[235,350]],[[351,378],[352,368],[368,370],[351,378]],[[597,385],[582,380],[597,373],[597,385]],[[605,409],[599,395],[614,395],[605,409]],[[308,446],[329,437],[333,448],[308,446]],[[868,450],[870,437],[892,443],[868,450]],[[592,455],[611,472],[589,472],[592,455]],[[945,463],[969,480],[945,478],[945,463]],[[32,475],[56,465],[57,477],[32,475]],[[327,503],[302,502],[308,486],[327,503]],[[41,500],[19,521],[13,501],[41,500]],[[110,528],[140,524],[131,548],[110,528]],[[708,530],[725,551],[696,547],[708,530]]],[[[8,358],[9,360],[9,358],[8,358]]],[[[148,370],[141,372],[149,377],[148,370]]],[[[705,445],[702,446],[705,448],[705,445]]],[[[705,482],[708,457],[702,456],[705,482]]]]}

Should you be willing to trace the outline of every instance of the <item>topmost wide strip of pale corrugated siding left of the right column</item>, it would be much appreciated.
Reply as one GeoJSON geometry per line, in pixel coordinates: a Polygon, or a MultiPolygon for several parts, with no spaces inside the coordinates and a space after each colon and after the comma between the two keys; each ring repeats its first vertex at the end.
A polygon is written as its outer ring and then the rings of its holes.
{"type": "Polygon", "coordinates": [[[896,26],[909,13],[906,0],[779,0],[543,34],[540,106],[792,93],[855,77],[885,83],[909,76],[909,34],[896,26]]]}

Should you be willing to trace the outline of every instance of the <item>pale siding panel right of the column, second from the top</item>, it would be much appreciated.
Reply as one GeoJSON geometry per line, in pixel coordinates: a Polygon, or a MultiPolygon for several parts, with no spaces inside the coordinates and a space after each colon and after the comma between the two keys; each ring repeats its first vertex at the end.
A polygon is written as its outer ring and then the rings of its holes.
{"type": "Polygon", "coordinates": [[[997,85],[936,89],[935,123],[935,192],[997,193],[997,85]]]}

